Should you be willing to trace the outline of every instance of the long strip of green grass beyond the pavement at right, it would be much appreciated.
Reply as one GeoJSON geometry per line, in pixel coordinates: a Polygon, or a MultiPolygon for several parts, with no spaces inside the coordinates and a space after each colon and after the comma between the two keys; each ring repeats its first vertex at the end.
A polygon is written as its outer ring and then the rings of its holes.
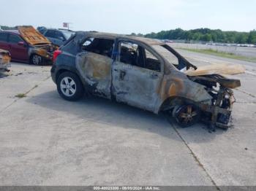
{"type": "Polygon", "coordinates": [[[179,49],[188,50],[188,51],[191,51],[191,52],[203,53],[203,54],[206,54],[206,55],[217,55],[217,56],[223,57],[223,58],[232,58],[232,59],[236,59],[236,60],[249,61],[249,62],[256,63],[256,57],[246,57],[246,56],[243,56],[243,55],[235,55],[235,54],[230,53],[230,52],[220,52],[220,51],[212,50],[212,49],[205,49],[205,50],[189,49],[189,48],[179,48],[179,49]]]}

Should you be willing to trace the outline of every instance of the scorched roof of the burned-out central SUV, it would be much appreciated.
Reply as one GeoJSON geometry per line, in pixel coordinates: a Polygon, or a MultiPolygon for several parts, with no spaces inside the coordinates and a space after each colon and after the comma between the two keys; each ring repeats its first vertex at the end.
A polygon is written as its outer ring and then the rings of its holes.
{"type": "Polygon", "coordinates": [[[131,39],[139,42],[144,42],[146,44],[154,45],[154,44],[165,44],[158,39],[148,39],[140,36],[132,36],[132,35],[124,35],[124,34],[112,34],[112,33],[102,33],[102,32],[86,32],[86,36],[91,36],[94,38],[108,38],[108,39],[131,39]]]}

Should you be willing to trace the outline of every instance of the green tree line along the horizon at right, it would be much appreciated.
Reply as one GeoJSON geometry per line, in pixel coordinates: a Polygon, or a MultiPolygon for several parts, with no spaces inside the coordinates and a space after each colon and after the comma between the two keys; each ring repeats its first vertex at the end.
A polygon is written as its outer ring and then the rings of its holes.
{"type": "MultiPolygon", "coordinates": [[[[141,34],[140,34],[141,35],[141,34]]],[[[211,30],[209,28],[198,28],[194,30],[184,31],[181,28],[176,28],[170,31],[160,31],[144,35],[153,39],[181,39],[195,40],[205,42],[223,42],[236,44],[256,44],[256,31],[238,32],[238,31],[222,31],[211,30]]]]}

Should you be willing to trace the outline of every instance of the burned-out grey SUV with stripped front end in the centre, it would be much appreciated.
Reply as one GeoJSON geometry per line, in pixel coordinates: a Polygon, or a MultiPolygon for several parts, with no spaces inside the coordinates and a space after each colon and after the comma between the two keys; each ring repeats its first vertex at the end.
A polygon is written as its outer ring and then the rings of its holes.
{"type": "Polygon", "coordinates": [[[211,128],[228,128],[235,102],[231,89],[241,84],[222,74],[242,72],[241,66],[197,68],[154,39],[77,32],[53,53],[51,77],[68,101],[91,93],[155,114],[165,112],[182,127],[203,120],[211,128]]]}

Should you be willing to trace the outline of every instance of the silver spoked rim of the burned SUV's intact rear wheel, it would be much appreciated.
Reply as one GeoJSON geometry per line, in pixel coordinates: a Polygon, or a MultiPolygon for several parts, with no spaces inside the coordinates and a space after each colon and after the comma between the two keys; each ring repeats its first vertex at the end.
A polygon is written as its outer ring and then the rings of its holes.
{"type": "Polygon", "coordinates": [[[71,77],[64,77],[61,79],[61,92],[67,96],[71,97],[72,95],[75,95],[77,87],[75,84],[75,80],[72,79],[71,77]]]}

